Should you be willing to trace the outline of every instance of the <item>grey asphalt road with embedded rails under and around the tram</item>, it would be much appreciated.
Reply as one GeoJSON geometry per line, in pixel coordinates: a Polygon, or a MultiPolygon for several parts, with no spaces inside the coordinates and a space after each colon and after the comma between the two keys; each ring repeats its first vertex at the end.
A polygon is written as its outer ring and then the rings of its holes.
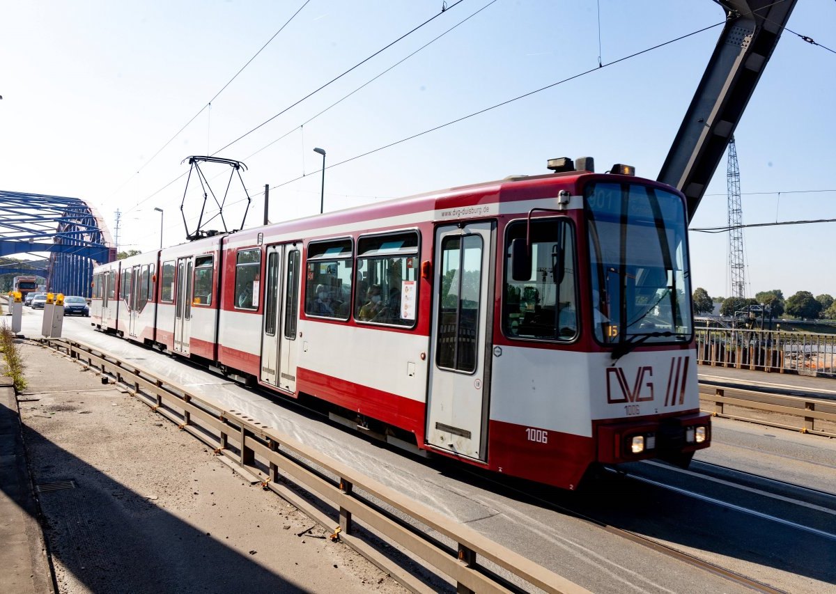
{"type": "MultiPolygon", "coordinates": [[[[24,334],[39,335],[41,315],[24,308],[24,334]]],[[[608,477],[591,492],[569,493],[474,474],[446,460],[413,458],[281,399],[267,399],[175,358],[97,333],[87,318],[65,320],[64,335],[120,353],[225,408],[263,419],[591,591],[750,591],[664,548],[640,544],[642,539],[783,591],[818,593],[836,584],[836,444],[826,438],[718,419],[713,446],[697,455],[698,464],[688,472],[640,464],[629,470],[643,481],[608,477]],[[710,465],[822,493],[811,499],[806,492],[778,490],[710,465]],[[723,472],[728,474],[717,476],[723,472]],[[611,529],[641,538],[630,540],[611,529]]]]}

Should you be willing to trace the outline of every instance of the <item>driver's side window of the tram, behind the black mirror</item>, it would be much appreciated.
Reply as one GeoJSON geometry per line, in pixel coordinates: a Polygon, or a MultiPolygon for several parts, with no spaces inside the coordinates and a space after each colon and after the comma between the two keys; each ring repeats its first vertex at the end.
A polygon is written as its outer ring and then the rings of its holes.
{"type": "Polygon", "coordinates": [[[515,281],[510,246],[525,236],[525,221],[508,226],[502,329],[509,338],[573,340],[578,335],[573,227],[565,218],[532,221],[531,275],[515,281]]]}

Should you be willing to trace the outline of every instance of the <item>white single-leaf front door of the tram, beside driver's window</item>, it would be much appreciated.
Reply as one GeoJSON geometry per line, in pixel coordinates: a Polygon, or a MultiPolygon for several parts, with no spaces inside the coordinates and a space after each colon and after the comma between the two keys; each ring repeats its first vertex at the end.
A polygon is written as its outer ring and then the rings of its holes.
{"type": "Polygon", "coordinates": [[[436,229],[426,439],[487,459],[495,231],[490,222],[436,229]]]}

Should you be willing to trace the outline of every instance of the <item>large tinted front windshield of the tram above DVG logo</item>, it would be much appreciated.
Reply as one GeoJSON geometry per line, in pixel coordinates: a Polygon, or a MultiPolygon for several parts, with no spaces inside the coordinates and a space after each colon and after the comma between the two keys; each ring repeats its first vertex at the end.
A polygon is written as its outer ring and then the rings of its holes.
{"type": "Polygon", "coordinates": [[[585,190],[594,336],[621,354],[640,343],[688,342],[691,278],[685,205],[639,184],[585,190]]]}

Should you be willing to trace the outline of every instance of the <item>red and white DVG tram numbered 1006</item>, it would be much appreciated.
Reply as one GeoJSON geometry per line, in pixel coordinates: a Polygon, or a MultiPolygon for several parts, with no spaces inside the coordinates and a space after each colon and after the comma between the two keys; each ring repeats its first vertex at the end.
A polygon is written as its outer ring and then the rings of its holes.
{"type": "Polygon", "coordinates": [[[685,200],[591,161],[111,262],[93,323],[549,485],[687,465],[711,432],[685,200]]]}

